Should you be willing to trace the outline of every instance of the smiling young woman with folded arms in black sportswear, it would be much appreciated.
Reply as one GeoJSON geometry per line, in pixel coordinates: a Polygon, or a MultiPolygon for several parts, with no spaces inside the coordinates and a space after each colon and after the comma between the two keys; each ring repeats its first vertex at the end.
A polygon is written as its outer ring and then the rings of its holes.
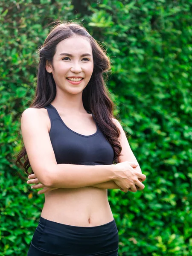
{"type": "Polygon", "coordinates": [[[29,184],[45,203],[28,256],[117,256],[107,189],[136,192],[146,176],[128,144],[103,73],[105,51],[78,23],[55,26],[39,50],[35,99],[21,116],[29,184]],[[115,164],[116,163],[116,164],[115,164]]]}

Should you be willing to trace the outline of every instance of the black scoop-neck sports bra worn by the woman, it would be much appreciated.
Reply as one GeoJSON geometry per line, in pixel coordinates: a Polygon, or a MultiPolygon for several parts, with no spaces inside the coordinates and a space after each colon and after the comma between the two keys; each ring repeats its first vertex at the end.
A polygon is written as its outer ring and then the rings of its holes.
{"type": "MultiPolygon", "coordinates": [[[[72,131],[61,119],[56,108],[46,107],[51,121],[49,137],[58,164],[107,165],[113,163],[114,151],[99,129],[92,135],[82,135],[72,131]]],[[[87,111],[87,113],[90,113],[87,111]]],[[[93,114],[92,114],[93,115],[93,114]]]]}

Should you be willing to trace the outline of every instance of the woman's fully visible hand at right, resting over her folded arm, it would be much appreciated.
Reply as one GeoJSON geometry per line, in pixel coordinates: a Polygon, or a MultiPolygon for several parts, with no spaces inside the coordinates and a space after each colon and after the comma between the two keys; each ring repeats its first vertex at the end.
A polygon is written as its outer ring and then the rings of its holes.
{"type": "Polygon", "coordinates": [[[122,188],[123,192],[137,192],[138,190],[142,190],[145,188],[142,182],[140,182],[140,179],[142,181],[145,181],[146,176],[143,173],[137,172],[134,170],[135,167],[138,166],[137,163],[133,162],[122,162],[117,163],[115,166],[115,178],[113,181],[122,188]],[[136,187],[137,186],[137,187],[136,187]]]}

